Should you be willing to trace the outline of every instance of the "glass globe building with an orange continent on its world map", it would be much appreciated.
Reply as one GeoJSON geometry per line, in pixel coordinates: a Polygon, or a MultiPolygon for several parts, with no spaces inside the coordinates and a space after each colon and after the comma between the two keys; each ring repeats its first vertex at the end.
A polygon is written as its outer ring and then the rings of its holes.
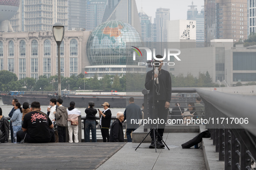
{"type": "Polygon", "coordinates": [[[91,66],[86,66],[87,77],[122,75],[129,72],[144,72],[138,66],[142,57],[133,60],[131,46],[143,47],[143,41],[136,29],[123,21],[110,20],[98,25],[87,40],[87,57],[91,66]]]}

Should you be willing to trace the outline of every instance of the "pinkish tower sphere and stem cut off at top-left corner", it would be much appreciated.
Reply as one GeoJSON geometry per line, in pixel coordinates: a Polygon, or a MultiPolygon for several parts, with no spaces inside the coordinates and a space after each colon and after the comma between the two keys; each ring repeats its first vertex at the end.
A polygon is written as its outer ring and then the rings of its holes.
{"type": "Polygon", "coordinates": [[[10,31],[9,19],[11,19],[19,9],[19,0],[0,0],[0,31],[10,31]]]}

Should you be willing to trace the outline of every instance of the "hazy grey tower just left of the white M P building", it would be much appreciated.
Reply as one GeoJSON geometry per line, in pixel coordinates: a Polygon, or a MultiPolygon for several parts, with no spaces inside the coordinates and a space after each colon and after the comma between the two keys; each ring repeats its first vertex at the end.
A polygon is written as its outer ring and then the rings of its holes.
{"type": "Polygon", "coordinates": [[[156,9],[156,41],[167,42],[168,37],[168,23],[170,21],[170,9],[158,8],[156,9]]]}

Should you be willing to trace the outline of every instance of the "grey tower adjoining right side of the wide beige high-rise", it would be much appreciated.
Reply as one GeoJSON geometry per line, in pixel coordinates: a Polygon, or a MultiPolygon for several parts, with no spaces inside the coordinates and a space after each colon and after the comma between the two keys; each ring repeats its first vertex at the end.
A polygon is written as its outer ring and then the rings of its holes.
{"type": "Polygon", "coordinates": [[[68,0],[68,30],[85,29],[85,6],[85,0],[68,0]]]}

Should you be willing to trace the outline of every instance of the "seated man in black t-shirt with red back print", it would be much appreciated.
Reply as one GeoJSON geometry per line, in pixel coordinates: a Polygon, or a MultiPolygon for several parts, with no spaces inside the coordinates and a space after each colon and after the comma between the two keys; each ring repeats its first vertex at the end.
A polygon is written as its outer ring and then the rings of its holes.
{"type": "Polygon", "coordinates": [[[31,112],[24,116],[22,130],[17,132],[17,142],[23,139],[26,143],[55,142],[52,121],[40,110],[40,103],[32,102],[31,112]]]}

